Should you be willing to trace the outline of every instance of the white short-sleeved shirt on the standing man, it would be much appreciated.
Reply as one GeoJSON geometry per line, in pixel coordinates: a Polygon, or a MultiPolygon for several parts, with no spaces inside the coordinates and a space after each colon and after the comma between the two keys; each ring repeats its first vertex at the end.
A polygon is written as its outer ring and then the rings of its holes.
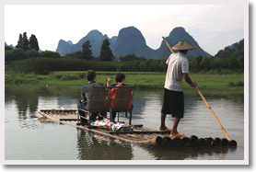
{"type": "Polygon", "coordinates": [[[172,53],[166,63],[168,64],[168,70],[165,88],[183,92],[183,73],[189,74],[189,61],[186,55],[182,52],[172,53]]]}

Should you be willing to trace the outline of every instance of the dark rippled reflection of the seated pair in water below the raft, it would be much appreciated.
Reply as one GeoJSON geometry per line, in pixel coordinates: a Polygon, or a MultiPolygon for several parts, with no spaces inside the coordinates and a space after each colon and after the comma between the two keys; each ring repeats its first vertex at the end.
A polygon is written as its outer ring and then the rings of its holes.
{"type": "Polygon", "coordinates": [[[133,148],[130,143],[122,143],[93,132],[77,128],[77,159],[79,160],[130,160],[133,148]]]}

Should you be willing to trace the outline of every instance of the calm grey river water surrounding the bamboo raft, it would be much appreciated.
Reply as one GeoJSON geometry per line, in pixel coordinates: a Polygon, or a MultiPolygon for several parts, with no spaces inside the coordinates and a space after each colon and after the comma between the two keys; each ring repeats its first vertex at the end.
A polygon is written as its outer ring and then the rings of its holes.
{"type": "MultiPolygon", "coordinates": [[[[51,91],[47,87],[6,87],[6,160],[244,160],[243,98],[205,97],[236,148],[156,148],[125,143],[42,118],[38,109],[76,109],[79,89],[51,91]],[[40,90],[40,91],[39,91],[40,90]]],[[[135,92],[133,124],[158,130],[163,93],[135,92]]],[[[127,121],[126,119],[120,119],[127,121]]],[[[173,119],[166,124],[172,127],[173,119]]],[[[226,138],[201,97],[185,95],[185,114],[178,131],[187,136],[226,138]]]]}

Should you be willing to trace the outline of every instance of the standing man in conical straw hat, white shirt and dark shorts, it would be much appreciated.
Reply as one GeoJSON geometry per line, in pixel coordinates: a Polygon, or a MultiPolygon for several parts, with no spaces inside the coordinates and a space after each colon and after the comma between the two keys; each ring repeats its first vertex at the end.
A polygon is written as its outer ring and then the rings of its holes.
{"type": "Polygon", "coordinates": [[[160,132],[171,131],[170,137],[184,137],[177,131],[180,118],[183,118],[184,114],[184,95],[182,79],[191,86],[197,86],[192,81],[189,75],[189,61],[186,54],[189,50],[196,49],[195,46],[190,44],[187,40],[181,40],[178,44],[172,47],[173,50],[178,50],[178,53],[172,53],[167,60],[168,70],[165,81],[165,94],[164,103],[161,110],[161,125],[159,128],[160,132]],[[172,130],[170,130],[166,124],[166,115],[171,114],[174,118],[172,130]]]}

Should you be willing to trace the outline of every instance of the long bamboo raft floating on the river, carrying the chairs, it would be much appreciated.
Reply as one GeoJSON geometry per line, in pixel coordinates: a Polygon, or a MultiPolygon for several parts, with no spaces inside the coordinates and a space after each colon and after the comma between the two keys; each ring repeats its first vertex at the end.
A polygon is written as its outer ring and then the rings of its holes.
{"type": "Polygon", "coordinates": [[[169,137],[170,132],[158,132],[143,127],[143,125],[134,125],[132,132],[114,132],[102,130],[88,125],[79,125],[77,122],[78,112],[76,109],[39,109],[38,112],[50,120],[62,124],[73,125],[77,128],[106,135],[111,138],[119,139],[129,143],[139,143],[153,146],[237,146],[237,142],[228,141],[226,138],[198,138],[195,135],[182,138],[169,137]]]}

